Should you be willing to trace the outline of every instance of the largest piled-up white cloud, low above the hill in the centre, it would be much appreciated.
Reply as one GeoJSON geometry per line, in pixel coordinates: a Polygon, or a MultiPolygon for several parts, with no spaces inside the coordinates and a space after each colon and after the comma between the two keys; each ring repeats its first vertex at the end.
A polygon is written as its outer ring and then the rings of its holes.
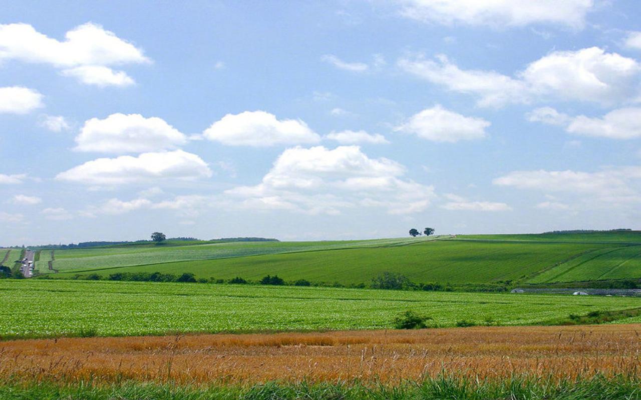
{"type": "Polygon", "coordinates": [[[420,212],[434,191],[409,179],[405,168],[372,159],[358,146],[288,148],[256,186],[229,189],[237,207],[339,214],[353,207],[379,207],[391,214],[420,212]]]}

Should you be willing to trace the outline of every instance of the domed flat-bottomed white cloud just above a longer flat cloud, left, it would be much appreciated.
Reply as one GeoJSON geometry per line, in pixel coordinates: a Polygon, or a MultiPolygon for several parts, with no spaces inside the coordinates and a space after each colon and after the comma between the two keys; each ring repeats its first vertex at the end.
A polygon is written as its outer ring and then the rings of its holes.
{"type": "Polygon", "coordinates": [[[117,113],[87,120],[76,143],[82,152],[140,153],[174,149],[187,143],[187,136],[155,116],[117,113]]]}

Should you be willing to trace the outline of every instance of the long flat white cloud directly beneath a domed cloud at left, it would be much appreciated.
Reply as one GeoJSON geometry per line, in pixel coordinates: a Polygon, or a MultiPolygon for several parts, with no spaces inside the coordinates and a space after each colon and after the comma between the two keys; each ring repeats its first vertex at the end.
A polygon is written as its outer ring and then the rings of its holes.
{"type": "Polygon", "coordinates": [[[199,156],[175,150],[143,153],[137,157],[99,158],[58,173],[56,179],[93,185],[118,185],[158,179],[194,180],[210,176],[212,171],[199,156]]]}

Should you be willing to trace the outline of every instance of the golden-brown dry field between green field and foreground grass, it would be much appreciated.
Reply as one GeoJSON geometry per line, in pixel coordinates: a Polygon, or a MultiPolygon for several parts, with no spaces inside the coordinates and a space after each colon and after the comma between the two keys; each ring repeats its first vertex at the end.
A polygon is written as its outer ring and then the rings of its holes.
{"type": "Polygon", "coordinates": [[[0,379],[112,383],[381,380],[454,373],[641,377],[641,324],[0,342],[0,379]]]}

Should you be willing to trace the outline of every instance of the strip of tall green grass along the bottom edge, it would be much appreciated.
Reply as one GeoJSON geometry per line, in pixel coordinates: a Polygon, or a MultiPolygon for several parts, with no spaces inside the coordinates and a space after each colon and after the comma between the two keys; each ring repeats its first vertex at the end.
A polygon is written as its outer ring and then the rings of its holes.
{"type": "Polygon", "coordinates": [[[204,400],[204,399],[523,399],[523,400],[616,400],[641,399],[641,382],[627,376],[594,376],[572,381],[555,381],[516,376],[499,381],[474,381],[439,376],[399,385],[365,385],[359,381],[285,384],[268,381],[252,386],[192,386],[124,382],[97,386],[79,381],[73,385],[55,383],[3,383],[0,399],[42,400],[204,400]]]}

